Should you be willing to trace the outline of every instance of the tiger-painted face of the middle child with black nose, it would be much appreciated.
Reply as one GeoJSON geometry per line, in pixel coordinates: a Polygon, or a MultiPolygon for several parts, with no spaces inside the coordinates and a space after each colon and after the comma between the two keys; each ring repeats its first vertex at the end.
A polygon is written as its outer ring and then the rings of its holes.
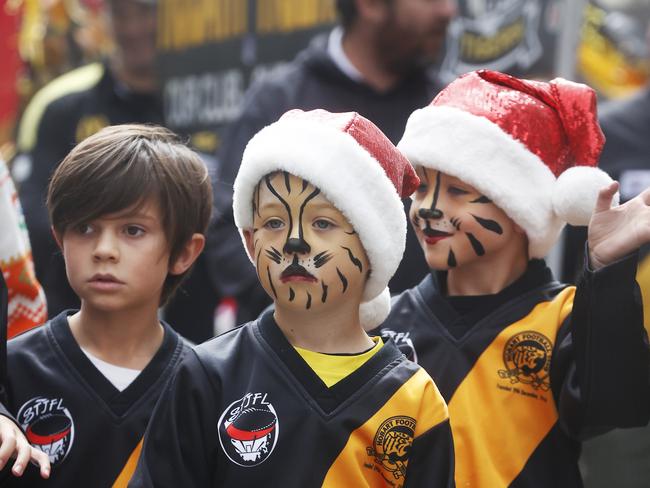
{"type": "Polygon", "coordinates": [[[245,236],[276,306],[314,311],[361,302],[370,268],[359,236],[308,181],[286,172],[262,178],[245,236]]]}

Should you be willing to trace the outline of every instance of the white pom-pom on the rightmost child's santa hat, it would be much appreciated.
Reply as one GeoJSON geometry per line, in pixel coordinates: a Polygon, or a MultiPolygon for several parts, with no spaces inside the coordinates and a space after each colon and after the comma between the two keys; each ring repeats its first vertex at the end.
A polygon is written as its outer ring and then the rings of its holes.
{"type": "MultiPolygon", "coordinates": [[[[574,166],[562,172],[553,188],[553,211],[571,225],[588,225],[598,193],[612,183],[603,170],[591,166],[574,166]]],[[[618,205],[616,193],[613,205],[618,205]]]]}

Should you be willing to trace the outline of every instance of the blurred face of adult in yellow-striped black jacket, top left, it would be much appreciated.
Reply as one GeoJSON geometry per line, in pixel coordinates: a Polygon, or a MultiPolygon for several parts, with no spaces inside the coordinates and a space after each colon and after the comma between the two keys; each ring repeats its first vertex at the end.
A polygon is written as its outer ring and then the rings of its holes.
{"type": "Polygon", "coordinates": [[[156,62],[155,0],[108,0],[107,5],[118,61],[129,73],[149,74],[156,62]]]}

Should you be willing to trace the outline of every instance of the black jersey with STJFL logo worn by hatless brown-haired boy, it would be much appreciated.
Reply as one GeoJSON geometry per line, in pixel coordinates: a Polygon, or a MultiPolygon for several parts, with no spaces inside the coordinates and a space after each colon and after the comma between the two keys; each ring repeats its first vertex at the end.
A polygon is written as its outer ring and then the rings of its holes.
{"type": "Polygon", "coordinates": [[[9,411],[52,463],[49,480],[29,466],[2,486],[124,487],[158,397],[190,350],[164,324],[159,350],[123,391],[77,344],[66,313],[9,341],[9,411]]]}

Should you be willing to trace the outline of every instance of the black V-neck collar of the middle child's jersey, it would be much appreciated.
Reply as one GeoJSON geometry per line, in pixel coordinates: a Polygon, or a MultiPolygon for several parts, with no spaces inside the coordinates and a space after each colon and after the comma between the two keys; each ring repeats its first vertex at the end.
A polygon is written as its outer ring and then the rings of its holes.
{"type": "Polygon", "coordinates": [[[287,366],[294,379],[306,390],[325,414],[334,412],[343,402],[355,396],[373,377],[402,353],[388,340],[377,353],[356,371],[328,388],[289,343],[278,327],[273,312],[265,313],[257,322],[258,330],[278,358],[287,366]]]}

